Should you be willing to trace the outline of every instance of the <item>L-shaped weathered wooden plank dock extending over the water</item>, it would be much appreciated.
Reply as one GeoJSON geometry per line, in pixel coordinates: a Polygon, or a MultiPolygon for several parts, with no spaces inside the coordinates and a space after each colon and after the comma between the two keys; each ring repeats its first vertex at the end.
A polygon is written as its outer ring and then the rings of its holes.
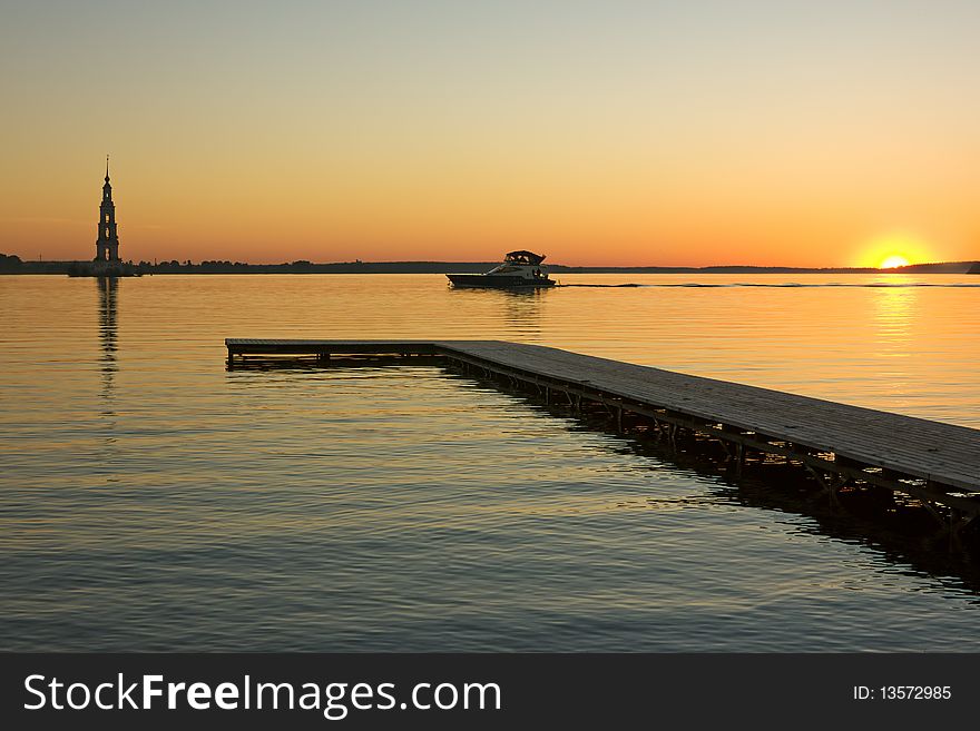
{"type": "Polygon", "coordinates": [[[670,438],[677,429],[715,437],[736,474],[749,452],[780,455],[807,470],[831,500],[849,484],[886,487],[921,501],[953,535],[980,515],[980,429],[503,340],[225,344],[229,368],[248,356],[434,356],[527,386],[547,403],[602,404],[620,431],[626,416],[670,438]]]}

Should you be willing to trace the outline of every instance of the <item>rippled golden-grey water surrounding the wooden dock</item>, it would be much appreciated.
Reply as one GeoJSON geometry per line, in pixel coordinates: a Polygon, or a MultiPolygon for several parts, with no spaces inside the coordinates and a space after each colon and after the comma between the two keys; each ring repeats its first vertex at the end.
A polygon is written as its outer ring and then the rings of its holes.
{"type": "Polygon", "coordinates": [[[224,367],[493,337],[980,427],[969,277],[561,279],[647,286],[0,277],[0,649],[980,649],[968,571],[778,485],[434,366],[224,367]]]}

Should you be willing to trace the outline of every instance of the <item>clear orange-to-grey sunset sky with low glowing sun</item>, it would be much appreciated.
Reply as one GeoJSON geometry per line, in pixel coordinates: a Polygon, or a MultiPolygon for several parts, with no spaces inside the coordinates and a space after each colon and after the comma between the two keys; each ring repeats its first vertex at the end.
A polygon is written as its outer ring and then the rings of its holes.
{"type": "Polygon", "coordinates": [[[976,0],[4,1],[0,251],[980,258],[976,0]]]}

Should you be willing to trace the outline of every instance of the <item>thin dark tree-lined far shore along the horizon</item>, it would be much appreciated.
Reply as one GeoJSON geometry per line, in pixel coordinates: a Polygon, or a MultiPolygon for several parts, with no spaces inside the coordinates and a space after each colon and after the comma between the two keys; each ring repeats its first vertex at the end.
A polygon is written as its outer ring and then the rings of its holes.
{"type": "MultiPolygon", "coordinates": [[[[23,261],[0,254],[0,274],[69,274],[88,261],[23,261]]],[[[481,273],[499,261],[337,261],[313,264],[244,264],[239,261],[134,263],[138,274],[465,274],[481,273]]],[[[765,267],[751,265],[709,267],[576,267],[555,264],[552,274],[980,274],[980,261],[913,264],[895,269],[874,267],[765,267]]]]}

